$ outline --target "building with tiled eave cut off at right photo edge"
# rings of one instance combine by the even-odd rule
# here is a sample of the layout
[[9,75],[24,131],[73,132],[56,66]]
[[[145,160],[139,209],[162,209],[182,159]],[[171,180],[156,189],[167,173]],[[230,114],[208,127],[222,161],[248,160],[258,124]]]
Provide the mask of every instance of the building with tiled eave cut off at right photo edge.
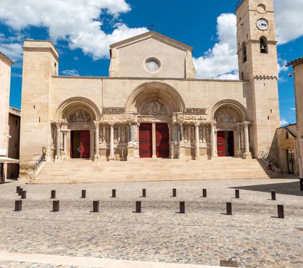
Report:
[[294,68],[294,93],[297,114],[297,144],[299,149],[299,174],[303,178],[303,58],[291,61]]

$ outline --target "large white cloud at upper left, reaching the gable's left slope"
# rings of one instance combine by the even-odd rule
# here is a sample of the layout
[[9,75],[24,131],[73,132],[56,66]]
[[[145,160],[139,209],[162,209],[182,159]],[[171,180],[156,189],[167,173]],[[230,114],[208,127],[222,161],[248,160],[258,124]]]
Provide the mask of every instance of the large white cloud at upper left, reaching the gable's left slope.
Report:
[[11,29],[44,26],[53,41],[66,40],[94,59],[109,57],[109,44],[147,31],[116,24],[112,33],[102,31],[102,14],[113,20],[131,8],[125,0],[1,0],[0,20]]

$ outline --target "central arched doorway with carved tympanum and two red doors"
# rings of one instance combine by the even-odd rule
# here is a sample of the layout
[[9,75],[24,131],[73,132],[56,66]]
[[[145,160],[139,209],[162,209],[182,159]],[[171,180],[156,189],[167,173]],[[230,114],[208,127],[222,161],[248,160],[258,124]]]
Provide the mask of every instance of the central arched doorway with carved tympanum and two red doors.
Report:
[[138,115],[139,158],[169,158],[172,149],[172,114],[184,110],[179,93],[165,83],[144,83],[126,102],[126,112]]

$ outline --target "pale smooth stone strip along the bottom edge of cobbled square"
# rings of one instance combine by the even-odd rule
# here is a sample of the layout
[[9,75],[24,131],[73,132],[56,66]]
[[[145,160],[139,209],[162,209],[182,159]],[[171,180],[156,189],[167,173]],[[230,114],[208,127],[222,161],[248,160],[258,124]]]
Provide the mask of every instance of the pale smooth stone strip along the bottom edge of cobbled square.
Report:
[[39,264],[69,265],[102,268],[219,268],[194,264],[170,264],[163,262],[141,262],[121,259],[99,259],[91,257],[71,257],[50,254],[28,254],[15,252],[0,252],[0,261],[31,262]]

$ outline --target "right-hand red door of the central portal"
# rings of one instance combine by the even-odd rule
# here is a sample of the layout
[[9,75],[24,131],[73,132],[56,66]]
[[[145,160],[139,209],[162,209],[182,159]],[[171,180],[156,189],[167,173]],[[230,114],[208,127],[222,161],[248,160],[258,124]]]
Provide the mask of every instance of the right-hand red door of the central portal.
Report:
[[167,124],[156,124],[157,158],[169,157],[169,127]]

